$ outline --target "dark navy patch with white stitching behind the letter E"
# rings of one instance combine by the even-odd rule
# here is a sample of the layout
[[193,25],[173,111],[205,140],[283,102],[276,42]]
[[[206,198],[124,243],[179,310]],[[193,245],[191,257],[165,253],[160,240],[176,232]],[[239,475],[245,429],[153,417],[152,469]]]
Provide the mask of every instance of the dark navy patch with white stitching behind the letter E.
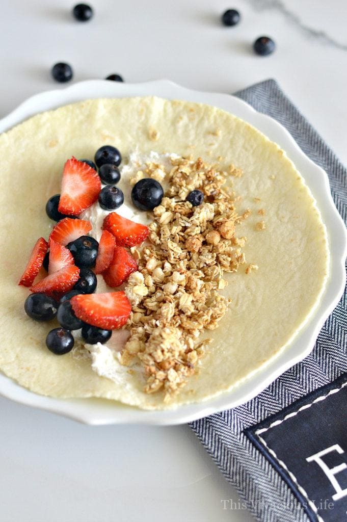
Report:
[[[317,521],[317,515],[297,484],[305,490],[325,522],[347,518],[347,492],[340,500],[333,501],[332,496],[336,491],[330,480],[315,461],[306,460],[307,457],[338,444],[343,454],[331,450],[321,458],[329,468],[343,462],[347,465],[347,387],[343,387],[345,383],[347,373],[245,430],[245,435],[285,480],[313,522]],[[339,392],[332,393],[336,390]],[[326,399],[317,401],[324,397]],[[308,405],[312,406],[305,408]],[[293,414],[293,417],[286,418],[290,414]],[[277,424],[279,421],[282,422]],[[261,432],[263,429],[267,431]],[[270,449],[276,455],[270,453]],[[294,475],[296,481],[285,468]],[[347,469],[337,473],[336,479],[341,489],[347,488]]]

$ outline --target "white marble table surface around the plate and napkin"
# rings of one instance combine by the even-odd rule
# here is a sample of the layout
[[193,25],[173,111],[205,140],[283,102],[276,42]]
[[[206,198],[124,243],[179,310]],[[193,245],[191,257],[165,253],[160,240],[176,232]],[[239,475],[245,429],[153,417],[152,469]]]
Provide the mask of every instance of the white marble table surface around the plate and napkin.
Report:
[[[272,77],[347,163],[344,0],[92,0],[88,23],[72,5],[3,3],[0,116],[56,88],[57,61],[74,81],[119,73],[219,92]],[[242,14],[234,28],[219,23],[228,7]],[[261,34],[276,40],[272,56],[252,53]],[[188,426],[91,428],[4,398],[0,408],[0,522],[253,520],[242,504],[223,509],[239,497]]]

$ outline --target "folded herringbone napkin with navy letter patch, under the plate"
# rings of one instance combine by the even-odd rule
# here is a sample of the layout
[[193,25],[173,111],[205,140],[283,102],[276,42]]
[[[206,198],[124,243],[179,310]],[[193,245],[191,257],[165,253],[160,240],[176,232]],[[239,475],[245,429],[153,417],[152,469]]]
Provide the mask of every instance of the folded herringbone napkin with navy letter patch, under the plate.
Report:
[[[274,80],[236,93],[279,121],[329,176],[346,222],[346,170]],[[255,399],[191,424],[243,501],[262,522],[347,520],[347,299],[322,328],[312,353]]]

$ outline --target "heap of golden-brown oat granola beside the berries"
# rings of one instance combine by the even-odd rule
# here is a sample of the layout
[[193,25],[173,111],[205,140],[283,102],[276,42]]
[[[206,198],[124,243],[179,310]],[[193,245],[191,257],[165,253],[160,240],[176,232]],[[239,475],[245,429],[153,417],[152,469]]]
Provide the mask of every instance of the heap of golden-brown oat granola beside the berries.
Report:
[[[171,163],[169,173],[163,165],[147,165],[145,175],[163,178],[163,173],[169,188],[153,210],[149,241],[131,249],[138,271],[125,288],[133,311],[120,358],[125,365],[140,361],[145,391],[163,390],[165,401],[197,371],[208,342],[199,342],[201,331],[216,328],[228,310],[229,300],[220,294],[227,284],[223,273],[245,263],[246,238],[236,237],[235,226],[250,213],[236,213],[235,196],[224,187],[227,173],[201,158]],[[193,207],[185,198],[196,188],[205,200]]]

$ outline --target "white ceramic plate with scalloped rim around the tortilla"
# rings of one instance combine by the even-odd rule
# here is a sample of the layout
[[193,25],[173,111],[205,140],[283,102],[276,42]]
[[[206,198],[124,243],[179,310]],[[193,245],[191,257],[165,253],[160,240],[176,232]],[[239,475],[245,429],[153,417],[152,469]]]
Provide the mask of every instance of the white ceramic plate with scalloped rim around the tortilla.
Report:
[[[39,112],[90,98],[122,98],[130,96],[160,96],[207,103],[229,111],[254,125],[286,151],[317,200],[326,224],[330,247],[330,277],[314,315],[295,337],[294,341],[277,358],[250,376],[239,386],[214,399],[180,406],[166,411],[145,411],[103,399],[54,399],[29,392],[11,379],[0,374],[0,394],[28,406],[34,406],[86,424],[180,424],[224,409],[232,408],[252,399],[276,377],[301,361],[313,349],[319,330],[339,302],[345,285],[344,261],[347,253],[347,234],[344,223],[330,195],[328,176],[296,145],[282,125],[255,111],[244,101],[229,94],[217,94],[185,89],[171,81],[158,80],[143,84],[123,84],[105,80],[83,81],[65,89],[37,94],[0,121],[0,132],[26,120]],[[333,274],[333,277],[331,276]]]

